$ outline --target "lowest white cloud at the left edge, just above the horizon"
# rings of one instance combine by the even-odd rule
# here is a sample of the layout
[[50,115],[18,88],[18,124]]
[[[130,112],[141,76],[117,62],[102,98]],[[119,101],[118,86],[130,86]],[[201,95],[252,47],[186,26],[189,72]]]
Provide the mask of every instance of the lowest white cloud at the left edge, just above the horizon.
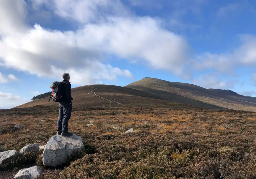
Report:
[[29,102],[29,100],[13,95],[12,93],[0,92],[0,109],[12,108],[27,102]]

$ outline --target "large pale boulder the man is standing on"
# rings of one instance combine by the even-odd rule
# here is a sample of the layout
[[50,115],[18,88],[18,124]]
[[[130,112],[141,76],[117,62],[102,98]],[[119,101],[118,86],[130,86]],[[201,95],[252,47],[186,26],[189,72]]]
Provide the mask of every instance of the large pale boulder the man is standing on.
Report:
[[52,136],[43,152],[43,164],[53,167],[61,165],[69,156],[80,152],[83,148],[82,138],[75,134],[71,137]]

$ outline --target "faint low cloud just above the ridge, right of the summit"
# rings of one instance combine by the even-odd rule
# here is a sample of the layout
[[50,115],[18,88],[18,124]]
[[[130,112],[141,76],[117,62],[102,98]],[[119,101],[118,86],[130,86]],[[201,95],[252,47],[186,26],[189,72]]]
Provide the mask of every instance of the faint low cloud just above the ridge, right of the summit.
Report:
[[226,81],[217,78],[216,76],[207,74],[200,75],[197,79],[192,80],[192,84],[213,89],[230,89],[234,87],[234,81]]

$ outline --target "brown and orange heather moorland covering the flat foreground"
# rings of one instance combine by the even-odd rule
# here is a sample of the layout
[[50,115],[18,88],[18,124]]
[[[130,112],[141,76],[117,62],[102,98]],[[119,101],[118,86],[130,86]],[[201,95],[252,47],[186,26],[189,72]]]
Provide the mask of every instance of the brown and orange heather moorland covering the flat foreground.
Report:
[[[57,117],[57,107],[0,110],[3,150],[45,145],[56,134]],[[22,128],[14,129],[17,123]],[[135,133],[124,134],[130,128]],[[69,130],[82,137],[85,150],[66,165],[45,168],[41,154],[22,155],[0,166],[0,178],[14,178],[19,169],[33,165],[45,179],[256,178],[254,112],[74,107]]]

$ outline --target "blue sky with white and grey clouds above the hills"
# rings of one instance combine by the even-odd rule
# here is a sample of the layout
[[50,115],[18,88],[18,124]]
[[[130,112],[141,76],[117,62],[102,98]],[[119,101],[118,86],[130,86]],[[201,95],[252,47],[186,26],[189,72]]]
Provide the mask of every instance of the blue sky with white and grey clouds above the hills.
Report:
[[0,108],[144,77],[256,95],[256,1],[0,0]]

